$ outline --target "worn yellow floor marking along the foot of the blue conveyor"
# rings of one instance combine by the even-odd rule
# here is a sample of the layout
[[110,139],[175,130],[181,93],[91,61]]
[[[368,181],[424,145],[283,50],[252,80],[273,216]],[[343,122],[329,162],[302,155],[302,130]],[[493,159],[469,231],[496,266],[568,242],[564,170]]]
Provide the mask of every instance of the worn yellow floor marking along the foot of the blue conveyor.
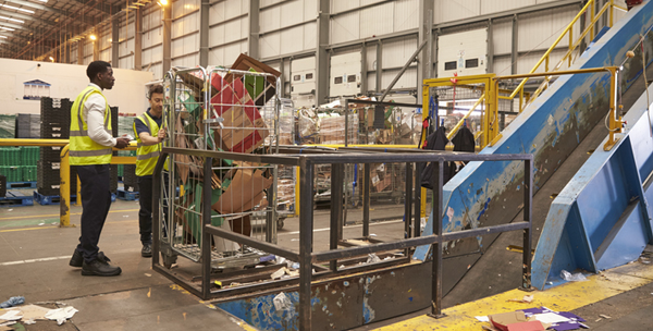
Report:
[[[544,306],[553,310],[569,311],[606,299],[626,291],[653,282],[653,266],[634,262],[594,274],[586,282],[566,283],[545,291],[531,293],[513,290],[476,302],[444,309],[447,316],[433,319],[419,316],[375,330],[480,330],[486,324],[475,316],[508,312],[517,309]],[[532,294],[530,304],[508,302]]]

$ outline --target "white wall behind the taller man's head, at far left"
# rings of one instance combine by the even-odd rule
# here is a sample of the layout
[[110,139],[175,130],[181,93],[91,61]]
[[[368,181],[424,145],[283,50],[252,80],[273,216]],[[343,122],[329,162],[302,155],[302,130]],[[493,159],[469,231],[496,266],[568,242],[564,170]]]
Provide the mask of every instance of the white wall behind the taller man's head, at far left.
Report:
[[[0,113],[40,113],[39,100],[23,100],[23,82],[33,79],[51,84],[51,98],[74,100],[88,85],[86,66],[0,59]],[[109,105],[118,106],[120,112],[143,113],[147,109],[145,84],[153,79],[152,73],[113,69],[113,76],[115,85],[104,90]]]

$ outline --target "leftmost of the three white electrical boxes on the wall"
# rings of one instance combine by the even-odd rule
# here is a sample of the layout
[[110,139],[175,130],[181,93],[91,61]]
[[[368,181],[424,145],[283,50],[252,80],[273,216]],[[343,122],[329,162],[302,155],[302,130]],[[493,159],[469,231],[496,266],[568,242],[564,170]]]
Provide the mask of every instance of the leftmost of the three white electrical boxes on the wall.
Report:
[[289,78],[295,108],[312,107],[316,103],[316,58],[293,60]]

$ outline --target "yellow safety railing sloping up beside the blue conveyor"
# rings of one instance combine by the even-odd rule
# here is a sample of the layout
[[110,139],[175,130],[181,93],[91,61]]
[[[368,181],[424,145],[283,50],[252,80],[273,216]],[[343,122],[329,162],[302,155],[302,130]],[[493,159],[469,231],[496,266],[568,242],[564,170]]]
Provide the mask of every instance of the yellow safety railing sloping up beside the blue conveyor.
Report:
[[[542,56],[542,58],[535,63],[535,65],[531,69],[531,71],[528,74],[534,74],[535,71],[538,71],[539,69],[541,69],[542,64],[544,64],[544,72],[557,72],[562,65],[565,62],[568,62],[568,65],[571,65],[571,63],[574,62],[574,51],[578,49],[578,47],[581,45],[581,42],[584,40],[584,38],[589,35],[590,39],[594,39],[595,37],[595,32],[594,32],[594,25],[597,23],[597,21],[601,19],[601,16],[604,13],[608,13],[608,26],[612,27],[613,23],[614,23],[614,11],[615,10],[621,10],[621,11],[628,11],[627,9],[619,7],[617,4],[614,3],[614,0],[609,0],[607,1],[599,12],[596,12],[595,7],[596,7],[597,1],[596,0],[589,0],[586,5],[578,12],[578,14],[574,17],[574,20],[571,20],[571,22],[566,26],[566,28],[560,33],[560,35],[557,37],[557,39],[553,42],[553,45],[551,45],[551,47],[544,52],[544,54]],[[589,12],[590,14],[590,20],[589,22],[586,23],[586,28],[580,32],[578,38],[574,38],[574,25],[586,14],[586,12]],[[568,45],[568,50],[567,52],[563,56],[563,58],[558,61],[558,63],[556,63],[551,70],[550,70],[550,61],[551,61],[551,54],[552,52],[556,49],[556,47],[558,46],[558,44],[565,39],[565,37],[568,38],[569,40],[569,45]],[[519,98],[519,112],[522,112],[526,107],[528,107],[530,103],[532,103],[532,101],[547,87],[549,82],[551,81],[551,78],[553,77],[553,74],[550,75],[537,75],[537,76],[542,76],[544,77],[544,81],[542,82],[542,84],[538,87],[538,89],[531,95],[527,91],[525,91],[525,85],[526,83],[529,81],[530,77],[533,76],[519,76],[521,77],[521,82],[519,83],[519,85],[509,94],[509,96],[498,96],[498,90],[495,93],[496,96],[498,96],[498,99],[504,99],[504,100],[514,100],[516,97]],[[478,77],[478,76],[470,76],[470,77]],[[447,78],[442,78],[442,79],[457,79],[458,82],[464,81],[466,77],[465,76],[458,76],[458,77],[447,77]],[[513,78],[517,78],[517,76],[513,76]],[[503,78],[502,78],[503,79]],[[424,79],[424,84],[427,84],[427,81],[433,81],[433,79]],[[460,83],[458,83],[460,84]],[[496,89],[496,87],[495,87]],[[424,98],[428,98],[428,94],[426,94]],[[449,133],[447,134],[447,137],[451,139],[456,132],[463,126],[464,121],[472,113],[472,111],[479,106],[482,105],[483,102],[486,102],[486,91],[485,94],[483,94],[478,101],[473,105],[473,107],[469,110],[469,112],[463,118],[460,119],[460,121],[454,126],[453,130],[449,131]],[[428,99],[426,99],[427,101],[424,101],[424,109],[428,109]],[[495,100],[494,102],[498,102],[497,100]],[[496,106],[498,103],[495,103],[495,109],[491,109],[489,107],[489,105],[485,107],[485,114],[483,115],[484,120],[482,121],[482,125],[481,125],[481,133],[480,135],[483,137],[481,139],[481,148],[485,147],[486,145],[491,145],[492,142],[495,142],[500,137],[500,133],[498,133],[498,127],[496,127],[496,125],[494,127],[491,126],[486,126],[486,125],[494,125],[494,119],[496,118]],[[489,112],[489,113],[488,113]],[[424,120],[428,117],[428,112],[424,112]],[[489,118],[490,120],[485,119]]]

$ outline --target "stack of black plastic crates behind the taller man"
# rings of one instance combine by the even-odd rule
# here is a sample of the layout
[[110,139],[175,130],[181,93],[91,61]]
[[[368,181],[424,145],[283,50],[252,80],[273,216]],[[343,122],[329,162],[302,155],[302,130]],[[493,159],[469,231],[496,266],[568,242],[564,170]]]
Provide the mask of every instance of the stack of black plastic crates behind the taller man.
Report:
[[[44,139],[69,139],[71,128],[70,99],[41,98],[40,137]],[[61,167],[61,147],[42,147],[37,167],[37,191],[46,196],[58,196]],[[71,194],[77,191],[77,171],[71,167]]]

